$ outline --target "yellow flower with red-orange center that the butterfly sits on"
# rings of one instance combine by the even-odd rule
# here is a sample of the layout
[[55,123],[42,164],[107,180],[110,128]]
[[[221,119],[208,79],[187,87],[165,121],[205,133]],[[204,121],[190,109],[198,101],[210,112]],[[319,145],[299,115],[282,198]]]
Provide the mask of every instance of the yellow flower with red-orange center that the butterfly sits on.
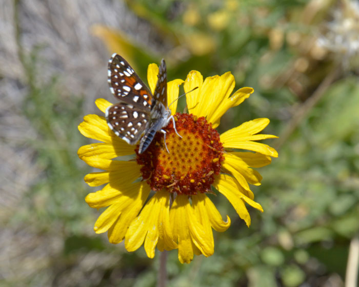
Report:
[[[151,64],[148,82],[152,91],[157,73],[158,67]],[[175,104],[170,107],[182,138],[171,121],[165,128],[169,153],[162,133],[157,133],[149,148],[138,154],[137,146],[128,145],[108,128],[105,117],[87,115],[78,129],[100,142],[81,147],[78,156],[91,167],[103,170],[85,176],[90,186],[106,184],[86,197],[92,208],[107,207],[95,223],[96,233],[107,231],[111,243],[125,240],[128,251],[144,244],[150,258],[156,247],[160,251],[178,249],[179,261],[189,263],[194,254],[213,254],[212,229],[223,232],[230,226],[230,218],[223,220],[208,196],[213,193],[211,186],[227,197],[249,226],[245,203],[263,212],[249,188],[249,183],[260,185],[262,180],[252,168],[268,165],[277,152],[256,142],[275,138],[258,134],[269,124],[267,118],[247,121],[222,135],[215,130],[222,115],[248,98],[252,88],[231,95],[234,77],[230,72],[203,80],[200,72],[191,71],[185,81],[168,83],[169,103],[177,98],[178,86],[183,82],[185,91],[198,89],[187,97],[190,114],[175,114]],[[96,105],[105,112],[111,103],[97,99]],[[117,158],[131,154],[135,160]]]

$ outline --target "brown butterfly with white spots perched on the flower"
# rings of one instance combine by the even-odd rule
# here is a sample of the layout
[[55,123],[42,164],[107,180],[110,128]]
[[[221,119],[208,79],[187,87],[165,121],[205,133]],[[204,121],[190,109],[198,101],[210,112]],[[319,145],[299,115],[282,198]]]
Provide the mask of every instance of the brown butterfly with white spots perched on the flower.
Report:
[[123,57],[114,53],[108,63],[108,83],[118,103],[106,109],[107,125],[130,145],[135,145],[143,135],[139,142],[139,154],[146,151],[158,131],[164,134],[167,149],[166,131],[163,128],[170,120],[176,134],[182,137],[177,133],[174,117],[167,107],[167,71],[164,59],[159,66],[157,77],[152,95]]

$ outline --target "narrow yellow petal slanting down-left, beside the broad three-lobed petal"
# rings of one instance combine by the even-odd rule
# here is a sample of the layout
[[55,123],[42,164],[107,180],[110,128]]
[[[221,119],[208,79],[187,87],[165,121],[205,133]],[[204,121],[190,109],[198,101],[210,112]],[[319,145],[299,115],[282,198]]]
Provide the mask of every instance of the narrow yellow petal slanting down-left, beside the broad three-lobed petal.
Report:
[[141,182],[136,199],[134,199],[133,203],[123,210],[121,216],[108,231],[108,239],[111,243],[116,244],[124,239],[128,227],[144,206],[150,191],[151,189],[147,183]]

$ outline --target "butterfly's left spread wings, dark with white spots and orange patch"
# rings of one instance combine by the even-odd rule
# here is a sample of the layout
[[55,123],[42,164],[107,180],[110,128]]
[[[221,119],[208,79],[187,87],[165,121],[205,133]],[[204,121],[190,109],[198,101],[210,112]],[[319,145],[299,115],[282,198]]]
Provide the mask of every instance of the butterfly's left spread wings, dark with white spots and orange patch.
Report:
[[117,136],[134,145],[149,126],[152,93],[118,54],[109,60],[108,83],[119,103],[107,108],[107,124]]

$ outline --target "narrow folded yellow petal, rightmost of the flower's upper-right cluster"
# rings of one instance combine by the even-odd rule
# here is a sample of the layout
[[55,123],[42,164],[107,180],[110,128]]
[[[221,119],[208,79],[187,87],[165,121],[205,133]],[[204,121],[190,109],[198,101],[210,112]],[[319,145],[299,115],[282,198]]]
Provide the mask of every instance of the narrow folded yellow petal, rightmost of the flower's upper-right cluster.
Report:
[[220,125],[221,117],[227,112],[229,108],[238,106],[243,103],[243,101],[253,93],[252,88],[241,88],[237,90],[231,97],[226,98],[222,101],[221,105],[215,109],[214,113],[212,113],[207,120],[212,122],[212,127],[216,128]]

